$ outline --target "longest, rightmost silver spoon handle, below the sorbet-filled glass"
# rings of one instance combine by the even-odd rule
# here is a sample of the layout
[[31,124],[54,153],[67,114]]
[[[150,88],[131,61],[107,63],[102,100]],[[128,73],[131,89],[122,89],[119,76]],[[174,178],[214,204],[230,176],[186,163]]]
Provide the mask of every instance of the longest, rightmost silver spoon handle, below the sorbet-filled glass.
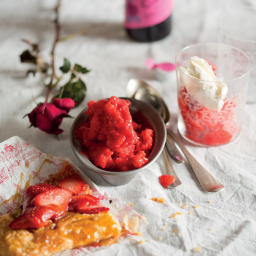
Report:
[[196,159],[188,152],[180,138],[178,138],[170,129],[168,133],[172,136],[173,140],[177,142],[180,149],[186,156],[188,163],[190,164],[192,170],[195,172],[196,178],[200,182],[202,188],[207,192],[217,192],[225,187],[218,180],[216,180],[212,175],[205,170],[205,168],[196,161]]

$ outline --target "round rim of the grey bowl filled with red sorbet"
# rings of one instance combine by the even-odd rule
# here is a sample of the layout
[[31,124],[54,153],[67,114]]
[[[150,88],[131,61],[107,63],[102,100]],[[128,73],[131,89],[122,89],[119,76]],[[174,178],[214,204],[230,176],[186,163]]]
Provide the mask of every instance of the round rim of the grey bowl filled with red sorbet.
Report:
[[[83,154],[79,153],[79,150],[77,150],[77,147],[74,145],[73,143],[73,139],[77,142],[79,142],[78,140],[76,140],[76,138],[74,138],[74,128],[77,125],[77,122],[79,121],[79,118],[81,118],[81,116],[84,115],[84,112],[86,111],[86,109],[88,108],[88,106],[86,106],[76,117],[76,119],[74,120],[74,122],[72,123],[72,126],[70,128],[70,133],[69,133],[69,139],[70,139],[70,145],[72,148],[72,151],[74,152],[76,158],[78,159],[78,161],[83,164],[83,166],[95,173],[98,173],[100,175],[108,175],[108,176],[127,176],[127,175],[131,175],[131,174],[135,174],[138,172],[141,172],[142,170],[145,170],[148,166],[150,166],[150,164],[154,163],[154,161],[156,161],[156,159],[160,156],[160,154],[163,151],[164,145],[165,145],[165,141],[166,141],[166,137],[167,137],[167,132],[166,132],[166,127],[163,121],[163,118],[161,118],[161,116],[159,115],[159,113],[156,111],[156,109],[154,109],[152,106],[150,106],[150,104],[148,104],[147,102],[144,102],[143,100],[137,100],[137,99],[133,99],[133,98],[127,98],[127,97],[119,97],[120,99],[124,99],[124,100],[129,100],[131,102],[131,106],[132,107],[132,102],[140,102],[140,104],[144,104],[145,106],[147,106],[148,109],[150,109],[150,112],[154,113],[154,115],[157,115],[159,117],[159,122],[161,122],[161,126],[163,127],[163,143],[159,149],[159,151],[156,153],[156,156],[151,159],[150,161],[148,161],[148,163],[146,163],[145,165],[141,166],[140,168],[136,168],[136,169],[132,169],[132,170],[128,170],[128,171],[124,171],[124,172],[113,172],[113,171],[107,171],[107,170],[103,170],[100,169],[99,167],[95,166],[90,159],[88,159],[86,156],[84,156]],[[109,99],[109,98],[108,98]],[[153,129],[153,127],[152,127]],[[155,131],[154,131],[155,132]],[[80,145],[80,144],[79,144]],[[90,166],[87,166],[84,164],[83,159],[87,159],[88,161],[90,161],[90,163],[92,163],[93,168],[91,168]]]

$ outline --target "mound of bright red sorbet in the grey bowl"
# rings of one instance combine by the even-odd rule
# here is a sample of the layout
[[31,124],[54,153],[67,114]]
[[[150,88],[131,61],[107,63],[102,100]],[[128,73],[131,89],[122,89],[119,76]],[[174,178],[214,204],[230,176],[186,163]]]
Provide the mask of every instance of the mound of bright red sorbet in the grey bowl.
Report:
[[75,134],[95,166],[124,172],[147,163],[154,131],[134,122],[129,106],[129,100],[115,96],[88,102],[88,122],[79,125]]

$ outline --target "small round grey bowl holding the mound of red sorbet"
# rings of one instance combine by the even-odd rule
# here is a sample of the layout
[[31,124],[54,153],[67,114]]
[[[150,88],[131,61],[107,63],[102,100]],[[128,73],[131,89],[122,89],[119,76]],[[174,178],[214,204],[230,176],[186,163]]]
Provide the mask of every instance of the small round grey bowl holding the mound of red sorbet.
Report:
[[[70,130],[70,144],[78,161],[81,164],[83,164],[85,168],[84,172],[98,173],[102,177],[102,179],[104,179],[106,182],[113,186],[127,184],[135,177],[137,173],[147,169],[148,166],[150,166],[150,164],[156,161],[157,157],[160,156],[164,148],[164,143],[166,141],[166,128],[163,119],[157,113],[157,111],[154,108],[152,108],[152,106],[141,100],[136,100],[132,98],[122,99],[127,99],[131,102],[131,107],[129,108],[129,110],[132,115],[132,118],[135,121],[136,118],[145,118],[145,120],[150,124],[151,128],[154,130],[154,144],[150,152],[150,155],[148,156],[148,163],[142,166],[141,168],[129,170],[126,172],[110,172],[98,168],[87,157],[79,153],[79,151],[81,150],[80,142],[76,140],[76,137],[74,135],[74,129],[76,129],[76,127],[79,124],[81,124],[81,122],[86,122],[86,120],[88,119],[88,116],[84,115],[84,111],[86,111],[87,108],[84,108],[83,111],[81,111],[81,113],[77,116]],[[138,120],[137,122],[140,124],[140,120]]]

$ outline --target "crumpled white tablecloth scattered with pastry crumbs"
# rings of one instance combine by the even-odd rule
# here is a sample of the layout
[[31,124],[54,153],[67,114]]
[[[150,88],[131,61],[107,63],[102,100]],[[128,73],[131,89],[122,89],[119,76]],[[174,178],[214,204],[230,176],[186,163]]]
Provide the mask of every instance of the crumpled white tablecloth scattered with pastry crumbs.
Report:
[[[253,0],[240,2],[255,6]],[[84,170],[68,139],[73,119],[63,120],[64,132],[58,140],[39,129],[28,128],[28,118],[22,118],[35,108],[31,97],[36,102],[44,100],[45,89],[38,76],[25,77],[28,66],[20,63],[19,54],[27,45],[21,38],[40,42],[42,55],[49,59],[54,38],[54,4],[55,1],[32,0],[0,2],[0,141],[20,136],[46,154],[70,158]],[[134,42],[125,34],[124,1],[63,1],[61,33],[68,35],[84,28],[88,31],[57,45],[56,67],[65,57],[92,70],[83,76],[86,99],[70,115],[76,116],[89,100],[112,95],[125,97],[127,82],[137,77],[163,95],[176,131],[175,74],[170,81],[157,81],[154,72],[145,67],[145,60],[173,62],[177,51],[186,45],[216,42],[218,15],[227,6],[221,0],[176,1],[170,36],[146,44]],[[130,202],[150,223],[129,246],[115,244],[92,255],[256,255],[256,104],[247,104],[244,110],[243,129],[236,141],[209,148],[194,147],[184,141],[189,152],[225,184],[225,190],[219,193],[205,193],[188,163],[173,163],[182,186],[162,188],[158,182],[163,172],[161,158],[120,187],[109,186],[84,170],[100,189],[126,204]],[[152,197],[163,197],[166,203],[157,204],[150,200]]]

